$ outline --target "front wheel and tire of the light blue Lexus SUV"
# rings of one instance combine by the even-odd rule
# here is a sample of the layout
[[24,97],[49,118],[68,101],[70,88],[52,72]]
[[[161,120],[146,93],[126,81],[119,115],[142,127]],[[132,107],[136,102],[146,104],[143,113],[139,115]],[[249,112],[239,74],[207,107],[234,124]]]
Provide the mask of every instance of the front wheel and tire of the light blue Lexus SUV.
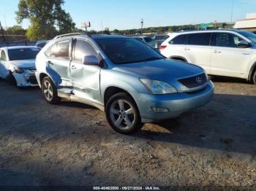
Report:
[[106,105],[105,112],[108,123],[118,133],[135,133],[143,127],[138,107],[127,93],[113,95]]

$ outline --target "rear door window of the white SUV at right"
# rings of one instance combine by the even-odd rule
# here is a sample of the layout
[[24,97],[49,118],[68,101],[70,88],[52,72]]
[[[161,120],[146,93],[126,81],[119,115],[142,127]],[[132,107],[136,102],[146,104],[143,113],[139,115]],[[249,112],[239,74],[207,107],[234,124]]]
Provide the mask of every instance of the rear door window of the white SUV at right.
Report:
[[211,39],[211,33],[190,34],[189,44],[208,46],[210,44],[210,39]]

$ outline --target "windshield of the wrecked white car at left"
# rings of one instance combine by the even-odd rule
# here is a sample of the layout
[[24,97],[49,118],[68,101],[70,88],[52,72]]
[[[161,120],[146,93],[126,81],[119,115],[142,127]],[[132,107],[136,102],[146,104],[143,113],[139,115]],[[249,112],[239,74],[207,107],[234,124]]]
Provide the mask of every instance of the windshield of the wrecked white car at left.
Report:
[[10,49],[8,55],[10,61],[30,60],[35,59],[39,51],[37,47]]

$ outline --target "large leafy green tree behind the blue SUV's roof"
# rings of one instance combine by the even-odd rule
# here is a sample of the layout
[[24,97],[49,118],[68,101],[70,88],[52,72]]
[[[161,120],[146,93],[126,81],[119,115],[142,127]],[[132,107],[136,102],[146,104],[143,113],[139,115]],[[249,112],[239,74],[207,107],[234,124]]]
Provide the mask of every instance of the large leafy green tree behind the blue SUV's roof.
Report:
[[75,23],[69,13],[62,9],[63,0],[20,0],[16,20],[29,19],[31,26],[26,32],[29,40],[51,39],[57,34],[69,33]]

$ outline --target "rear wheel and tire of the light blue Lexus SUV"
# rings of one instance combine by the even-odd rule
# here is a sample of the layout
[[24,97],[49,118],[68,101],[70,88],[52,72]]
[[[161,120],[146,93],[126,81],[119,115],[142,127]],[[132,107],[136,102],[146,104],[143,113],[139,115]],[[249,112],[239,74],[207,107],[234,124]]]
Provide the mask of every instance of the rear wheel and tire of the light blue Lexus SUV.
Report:
[[42,79],[41,86],[42,95],[45,101],[48,104],[58,104],[60,100],[58,97],[58,91],[56,85],[53,83],[50,77],[45,77],[44,79]]

